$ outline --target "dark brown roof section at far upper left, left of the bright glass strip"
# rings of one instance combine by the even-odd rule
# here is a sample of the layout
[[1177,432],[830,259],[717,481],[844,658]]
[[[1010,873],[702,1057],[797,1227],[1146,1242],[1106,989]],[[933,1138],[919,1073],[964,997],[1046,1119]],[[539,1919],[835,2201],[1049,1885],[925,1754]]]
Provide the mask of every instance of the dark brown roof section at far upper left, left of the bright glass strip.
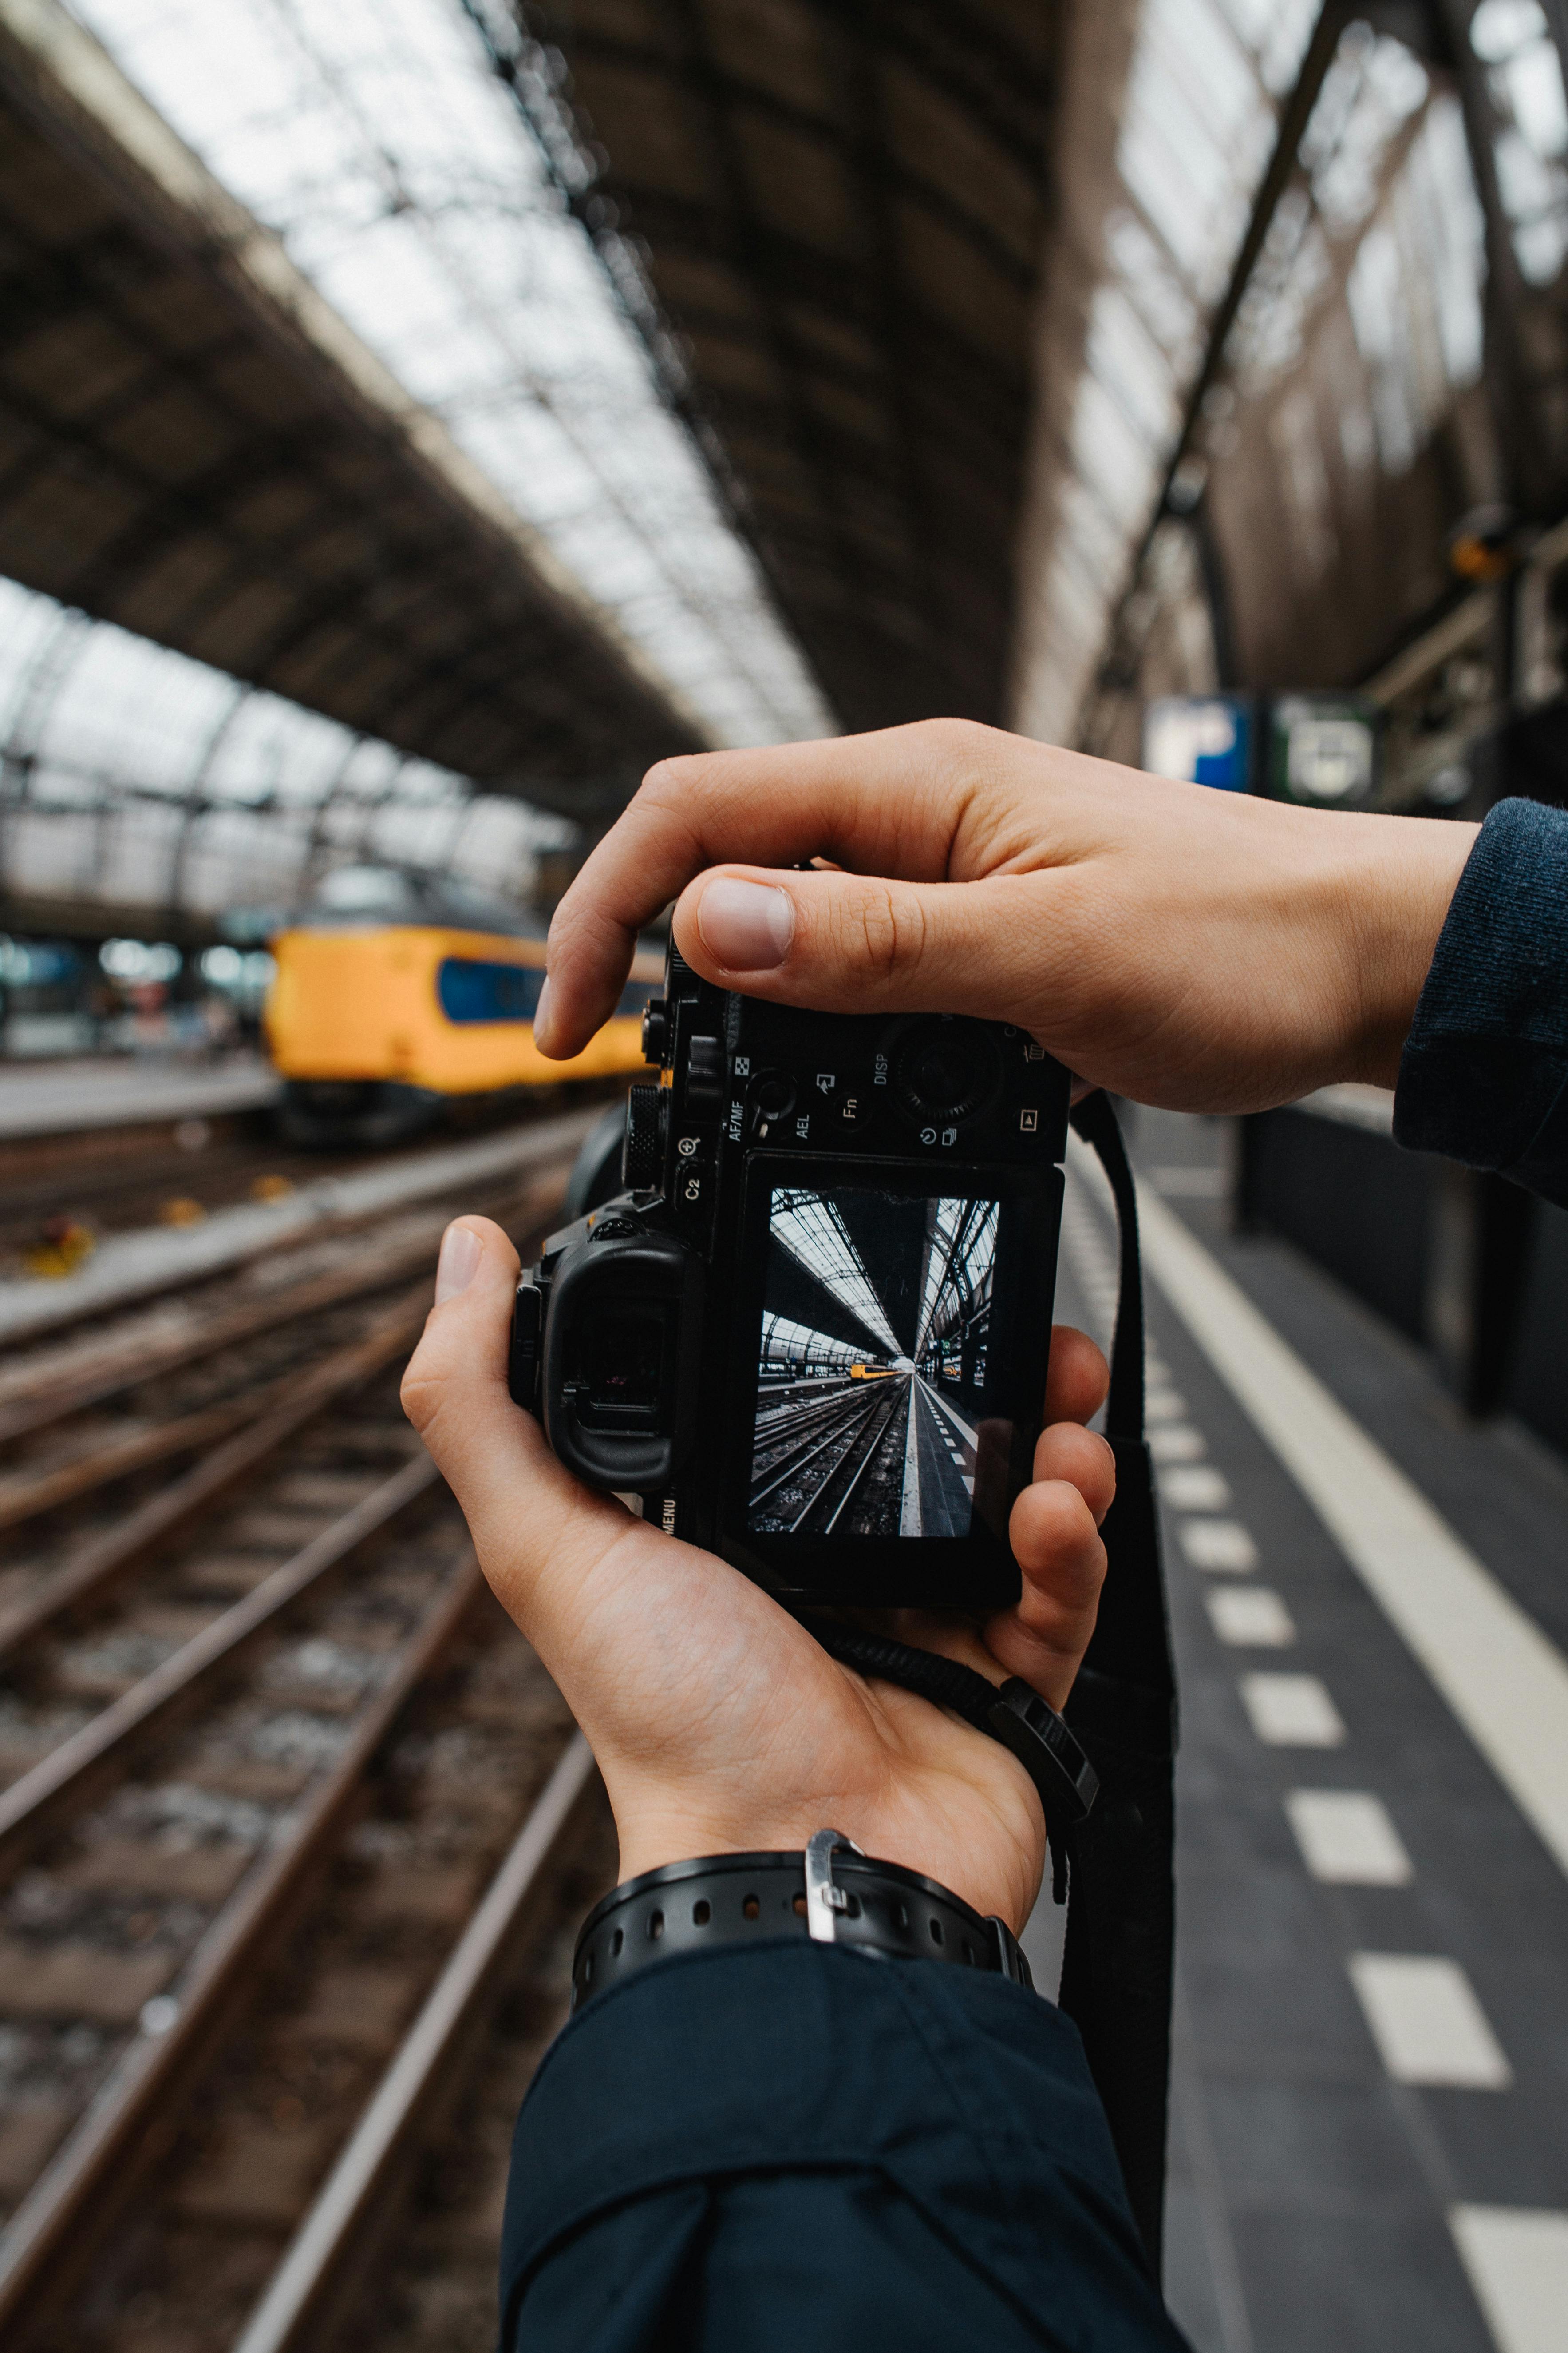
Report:
[[701,744],[543,536],[73,33],[49,56],[0,21],[5,572],[543,802]]

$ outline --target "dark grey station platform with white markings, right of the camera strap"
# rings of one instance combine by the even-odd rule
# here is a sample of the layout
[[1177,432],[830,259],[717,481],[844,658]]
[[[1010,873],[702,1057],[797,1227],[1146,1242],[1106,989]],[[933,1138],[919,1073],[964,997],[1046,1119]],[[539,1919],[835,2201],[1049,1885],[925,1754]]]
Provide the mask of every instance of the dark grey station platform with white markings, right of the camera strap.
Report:
[[[1180,1668],[1168,2285],[1199,2353],[1568,2344],[1568,1461],[1131,1113]],[[1074,1162],[1058,1315],[1105,1339]],[[1037,1913],[1051,1967],[1056,1925]]]

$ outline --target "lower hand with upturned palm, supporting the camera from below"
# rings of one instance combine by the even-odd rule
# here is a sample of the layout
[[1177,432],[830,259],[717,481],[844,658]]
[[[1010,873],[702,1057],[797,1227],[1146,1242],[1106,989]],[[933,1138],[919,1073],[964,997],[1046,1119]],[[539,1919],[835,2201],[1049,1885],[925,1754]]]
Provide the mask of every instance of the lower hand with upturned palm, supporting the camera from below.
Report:
[[[489,1584],[588,1734],[623,1878],[696,1854],[792,1852],[832,1826],[1020,1929],[1046,1831],[1018,1758],[926,1699],[837,1666],[738,1569],[562,1471],[505,1388],[515,1287],[517,1252],[498,1226],[447,1228],[402,1402]],[[1105,1574],[1098,1522],[1114,1464],[1081,1428],[1105,1384],[1093,1341],[1058,1327],[1053,1426],[1009,1529],[1023,1600],[985,1628],[900,1612],[882,1621],[889,1631],[1065,1701]]]

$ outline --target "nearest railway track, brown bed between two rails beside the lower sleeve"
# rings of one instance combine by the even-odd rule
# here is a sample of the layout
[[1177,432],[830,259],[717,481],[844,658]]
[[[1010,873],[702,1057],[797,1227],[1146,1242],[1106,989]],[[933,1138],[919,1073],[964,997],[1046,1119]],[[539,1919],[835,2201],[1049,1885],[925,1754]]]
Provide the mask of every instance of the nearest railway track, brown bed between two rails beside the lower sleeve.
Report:
[[[388,1558],[411,1605],[416,1567],[407,1548]],[[428,1572],[428,1539],[421,1558]],[[165,1798],[190,1786],[188,1758],[162,1769],[186,1774],[158,1784]],[[261,2322],[268,2287],[263,2341],[320,2344],[355,2245],[388,2226],[402,2169],[473,2064],[588,1774],[555,1687],[458,1546],[409,1607],[395,1671],[270,1835],[244,1817],[254,1849],[235,1840],[228,1809],[212,1849],[228,1871],[235,1845],[254,1859],[167,1991],[143,1995],[0,2238],[7,2346],[219,2353]],[[61,1885],[56,1868],[47,1887]],[[143,1885],[122,1901],[150,1911]],[[289,2235],[322,2198],[327,2219],[289,2268]]]

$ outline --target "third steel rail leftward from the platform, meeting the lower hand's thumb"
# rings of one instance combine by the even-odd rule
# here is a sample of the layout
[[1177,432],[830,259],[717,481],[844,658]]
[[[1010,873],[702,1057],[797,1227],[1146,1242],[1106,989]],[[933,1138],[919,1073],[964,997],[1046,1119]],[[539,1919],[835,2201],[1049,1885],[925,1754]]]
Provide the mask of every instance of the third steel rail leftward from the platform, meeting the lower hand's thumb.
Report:
[[35,1840],[56,1826],[63,1809],[96,1798],[113,1762],[129,1767],[146,1732],[162,1729],[181,1701],[233,1668],[259,1633],[331,1569],[341,1567],[369,1537],[381,1534],[416,1497],[435,1487],[437,1478],[435,1464],[423,1457],[383,1480],[362,1504],[355,1504],[341,1520],[301,1546],[292,1560],[273,1569],[244,1600],[223,1609],[212,1626],[181,1642],[162,1666],[101,1708],[19,1781],[12,1781],[0,1793],[0,1885],[26,1859]]

